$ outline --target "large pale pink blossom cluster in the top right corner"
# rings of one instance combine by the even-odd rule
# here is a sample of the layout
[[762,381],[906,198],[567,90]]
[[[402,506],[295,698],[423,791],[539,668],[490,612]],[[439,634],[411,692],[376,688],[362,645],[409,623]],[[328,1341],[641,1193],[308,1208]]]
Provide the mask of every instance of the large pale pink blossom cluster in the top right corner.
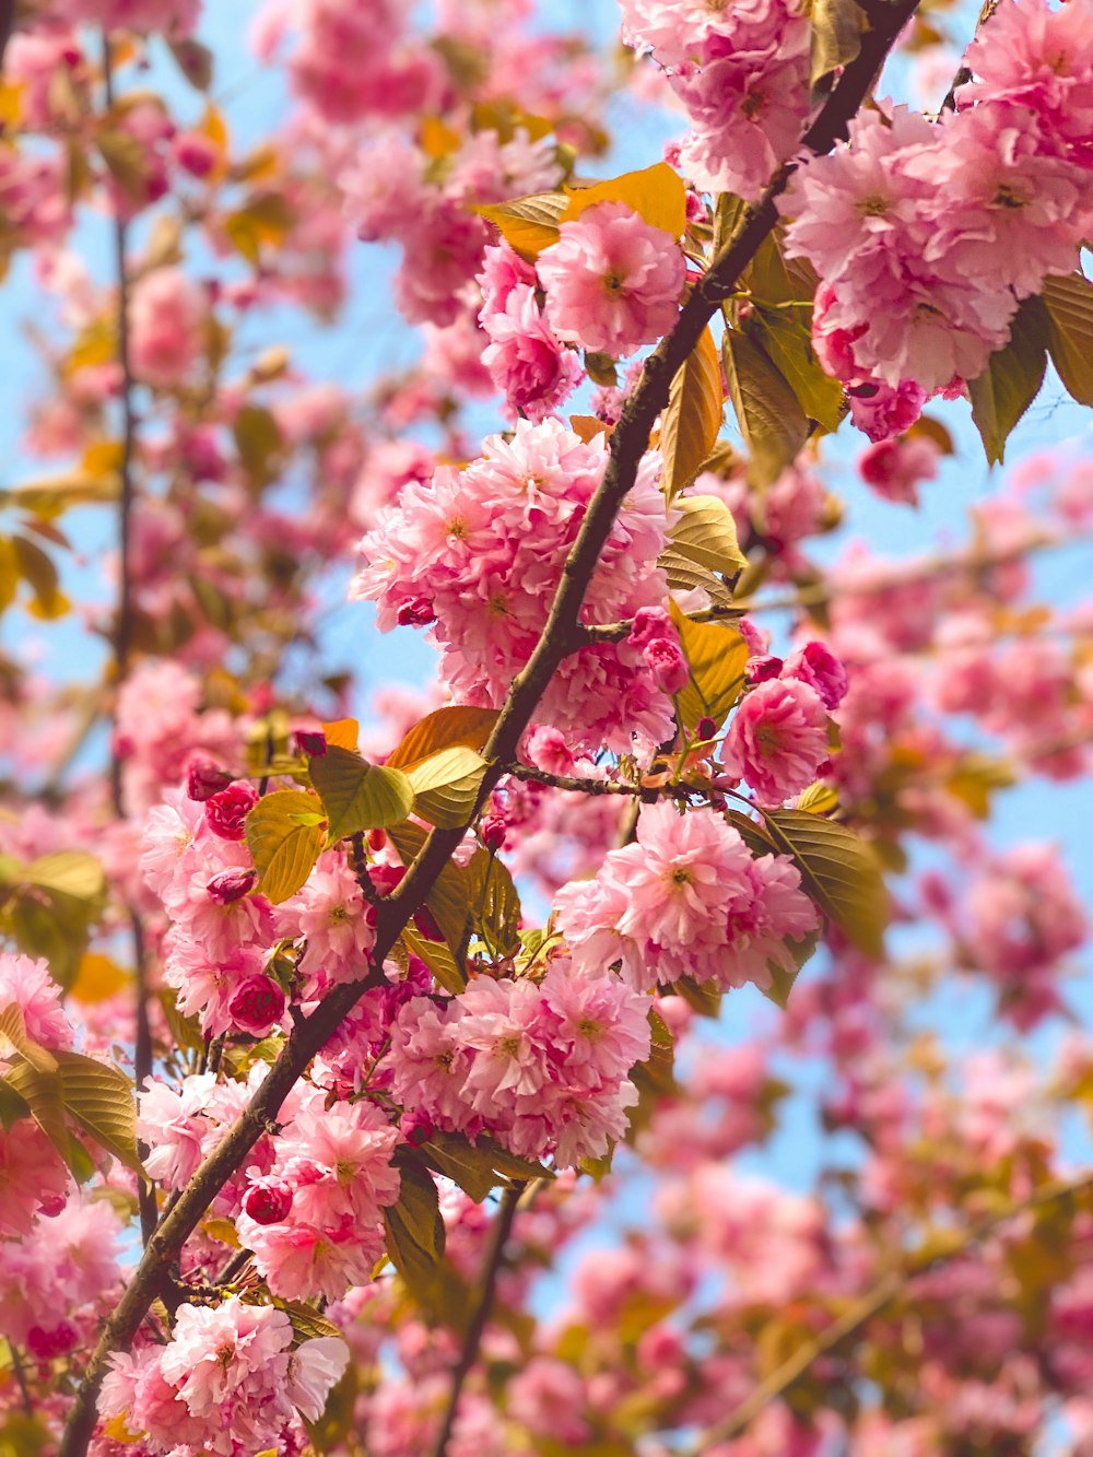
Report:
[[1092,22],[1089,0],[1006,0],[968,52],[979,79],[959,111],[866,111],[847,149],[796,172],[780,205],[790,254],[823,280],[816,347],[851,402],[876,415],[880,393],[874,439],[978,376],[1019,302],[1076,268],[1090,226]]

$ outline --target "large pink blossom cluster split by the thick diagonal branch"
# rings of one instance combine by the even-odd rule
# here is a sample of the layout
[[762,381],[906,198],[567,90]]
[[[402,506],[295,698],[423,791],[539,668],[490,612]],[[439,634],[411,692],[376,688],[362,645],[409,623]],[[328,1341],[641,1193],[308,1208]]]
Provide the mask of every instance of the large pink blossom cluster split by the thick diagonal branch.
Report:
[[[383,631],[436,622],[440,676],[452,695],[500,705],[539,641],[605,462],[602,437],[586,443],[552,418],[517,421],[510,439],[487,437],[481,459],[462,471],[440,466],[428,485],[411,482],[380,514],[361,542],[366,565],[353,594],[377,602]],[[657,474],[650,453],[593,574],[589,624],[632,618],[665,600]],[[651,746],[672,733],[670,699],[625,641],[567,659],[536,715],[592,749],[628,752],[632,734]]]

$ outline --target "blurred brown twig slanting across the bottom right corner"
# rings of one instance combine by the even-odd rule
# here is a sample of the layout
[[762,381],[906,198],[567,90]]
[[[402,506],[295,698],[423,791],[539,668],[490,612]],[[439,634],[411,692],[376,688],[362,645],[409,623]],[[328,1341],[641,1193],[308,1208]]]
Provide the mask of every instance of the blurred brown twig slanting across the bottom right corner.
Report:
[[920,1275],[925,1275],[927,1271],[936,1269],[940,1265],[947,1265],[953,1259],[966,1254],[969,1250],[975,1249],[991,1234],[995,1234],[1003,1225],[1019,1218],[1023,1214],[1030,1214],[1033,1209],[1042,1209],[1045,1205],[1058,1203],[1061,1199],[1067,1199],[1071,1195],[1081,1193],[1086,1189],[1093,1187],[1093,1171],[1077,1176],[1061,1183],[1045,1185],[1032,1193],[1027,1199],[1020,1203],[1013,1205],[1013,1208],[1003,1211],[1001,1214],[987,1215],[982,1220],[976,1220],[965,1234],[965,1237],[955,1244],[952,1249],[944,1250],[941,1254],[918,1256],[912,1257],[901,1269],[889,1271],[883,1275],[877,1284],[867,1291],[861,1300],[855,1301],[850,1310],[847,1310],[838,1320],[834,1320],[826,1326],[818,1336],[812,1340],[806,1340],[800,1345],[788,1359],[783,1361],[777,1371],[772,1371],[765,1381],[755,1387],[751,1396],[748,1396],[739,1406],[736,1406],[721,1422],[716,1422],[708,1431],[705,1431],[701,1438],[692,1445],[685,1448],[688,1457],[701,1457],[702,1453],[708,1451],[711,1445],[717,1442],[732,1441],[734,1437],[740,1437],[751,1423],[759,1416],[765,1406],[784,1396],[788,1389],[799,1381],[804,1372],[829,1351],[841,1345],[850,1336],[858,1335],[858,1332],[886,1305],[889,1305],[896,1295],[902,1294],[908,1285],[917,1279]]

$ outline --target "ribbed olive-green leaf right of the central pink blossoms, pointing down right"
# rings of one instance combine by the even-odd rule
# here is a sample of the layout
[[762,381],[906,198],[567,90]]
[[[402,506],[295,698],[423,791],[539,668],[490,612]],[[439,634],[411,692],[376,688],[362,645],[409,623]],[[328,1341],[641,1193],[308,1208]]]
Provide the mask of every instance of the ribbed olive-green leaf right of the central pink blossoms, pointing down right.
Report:
[[866,956],[882,957],[889,898],[870,847],[845,825],[802,810],[767,810],[764,819],[823,915]]

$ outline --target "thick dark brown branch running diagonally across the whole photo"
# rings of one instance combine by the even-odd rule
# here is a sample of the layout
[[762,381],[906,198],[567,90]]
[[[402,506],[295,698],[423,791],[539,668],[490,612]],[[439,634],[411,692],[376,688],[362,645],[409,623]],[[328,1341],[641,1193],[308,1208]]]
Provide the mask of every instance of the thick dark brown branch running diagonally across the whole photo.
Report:
[[[880,0],[873,6],[873,29],[863,36],[861,51],[845,67],[823,109],[804,134],[802,141],[804,150],[818,154],[829,152],[847,136],[851,117],[864,101],[889,48],[917,4],[918,0]],[[733,293],[740,274],[774,230],[778,221],[775,200],[786,191],[796,166],[796,162],[787,162],[778,169],[762,201],[745,213],[736,236],[714,258],[692,290],[672,332],[646,360],[641,379],[627,399],[622,418],[612,434],[603,479],[589,503],[577,539],[565,559],[542,637],[526,667],[513,682],[485,746],[484,756],[491,761],[491,768],[482,781],[479,804],[485,803],[497,785],[504,765],[516,758],[520,737],[532,723],[549,679],[563,659],[573,651],[573,634],[580,622],[580,609],[593,568],[622,500],[634,484],[653,424],[667,405],[672,379],[694,351],[721,300]],[[380,985],[385,957],[410,918],[424,905],[426,896],[462,838],[463,829],[434,829],[428,835],[407,876],[382,905],[367,978],[335,986],[310,1017],[293,1027],[262,1085],[219,1147],[200,1166],[171,1214],[160,1221],[95,1348],[83,1384],[73,1402],[58,1457],[85,1457],[95,1429],[98,1393],[111,1352],[133,1340],[156,1297],[163,1272],[178,1257],[182,1244],[197,1228],[222,1186],[258,1142],[267,1123],[275,1119],[281,1103],[307,1064],[363,994]]]

